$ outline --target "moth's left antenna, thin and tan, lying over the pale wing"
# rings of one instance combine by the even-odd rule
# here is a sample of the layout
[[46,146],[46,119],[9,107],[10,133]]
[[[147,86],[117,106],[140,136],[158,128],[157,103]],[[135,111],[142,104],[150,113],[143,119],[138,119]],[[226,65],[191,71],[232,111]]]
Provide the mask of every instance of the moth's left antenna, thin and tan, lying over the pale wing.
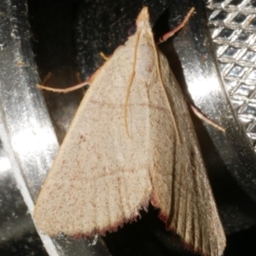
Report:
[[127,108],[128,108],[128,100],[129,100],[129,95],[130,95],[130,90],[131,90],[131,84],[133,82],[134,76],[135,76],[135,67],[136,67],[136,62],[137,62],[137,45],[139,41],[139,36],[141,32],[137,32],[136,34],[136,41],[135,41],[135,50],[133,54],[133,65],[132,65],[132,71],[131,71],[131,77],[128,83],[128,88],[126,91],[126,96],[125,96],[125,131],[128,137],[130,137],[129,131],[128,131],[128,125],[127,125]]

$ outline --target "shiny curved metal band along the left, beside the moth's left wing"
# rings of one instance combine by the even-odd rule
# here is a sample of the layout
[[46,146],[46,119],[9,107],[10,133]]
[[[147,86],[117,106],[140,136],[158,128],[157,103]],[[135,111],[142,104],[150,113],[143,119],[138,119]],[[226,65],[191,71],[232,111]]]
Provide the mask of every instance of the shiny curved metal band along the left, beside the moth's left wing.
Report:
[[[26,3],[1,1],[0,14],[0,137],[17,186],[32,213],[59,145],[42,92],[35,86],[38,73]],[[96,246],[89,247],[91,241],[74,241],[65,236],[52,241],[39,235],[49,255],[108,255],[101,238]]]

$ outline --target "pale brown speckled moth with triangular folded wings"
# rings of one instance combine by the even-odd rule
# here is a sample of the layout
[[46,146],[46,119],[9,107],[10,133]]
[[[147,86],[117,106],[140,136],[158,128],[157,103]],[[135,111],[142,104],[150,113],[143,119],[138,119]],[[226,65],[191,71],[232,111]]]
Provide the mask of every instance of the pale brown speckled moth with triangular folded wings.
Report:
[[90,88],[38,196],[39,230],[104,235],[150,201],[197,253],[225,236],[182,92],[154,43],[148,8],[137,32],[88,80]]

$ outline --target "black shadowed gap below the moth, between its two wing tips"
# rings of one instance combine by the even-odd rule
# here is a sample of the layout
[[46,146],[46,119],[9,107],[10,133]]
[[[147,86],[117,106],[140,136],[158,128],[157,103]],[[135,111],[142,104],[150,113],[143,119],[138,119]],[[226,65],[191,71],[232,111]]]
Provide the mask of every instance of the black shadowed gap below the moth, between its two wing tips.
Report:
[[118,232],[103,237],[110,253],[122,256],[195,255],[184,249],[177,235],[166,231],[165,224],[158,218],[158,212],[158,209],[149,205],[148,212],[140,212],[142,218],[137,222],[125,224]]

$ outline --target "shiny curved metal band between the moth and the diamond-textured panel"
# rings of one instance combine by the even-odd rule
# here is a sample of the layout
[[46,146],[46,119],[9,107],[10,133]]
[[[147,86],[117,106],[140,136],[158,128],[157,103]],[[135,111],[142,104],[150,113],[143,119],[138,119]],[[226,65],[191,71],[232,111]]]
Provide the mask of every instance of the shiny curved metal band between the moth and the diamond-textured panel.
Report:
[[[214,1],[211,2],[214,3]],[[224,1],[224,3],[228,2],[230,3],[230,1]],[[256,157],[254,148],[242,130],[230,100],[227,84],[224,83],[211,32],[206,24],[205,3],[203,1],[193,3],[195,15],[190,18],[188,25],[174,40],[174,47],[183,67],[184,80],[195,106],[208,119],[225,128],[224,133],[203,122],[207,135],[211,138],[227,171],[235,177],[236,182],[255,202]],[[207,145],[204,148],[207,148]],[[216,172],[218,169],[220,166],[216,162]]]

